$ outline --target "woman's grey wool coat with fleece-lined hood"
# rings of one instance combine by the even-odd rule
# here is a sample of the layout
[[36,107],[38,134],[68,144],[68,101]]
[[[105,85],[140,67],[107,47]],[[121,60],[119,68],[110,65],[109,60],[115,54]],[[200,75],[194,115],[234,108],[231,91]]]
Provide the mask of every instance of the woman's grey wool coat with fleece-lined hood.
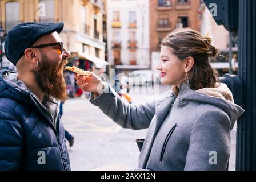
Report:
[[[227,89],[217,92],[231,94]],[[126,104],[106,84],[100,96],[93,98],[91,94],[90,102],[124,128],[149,128],[138,169],[159,171],[225,170],[230,131],[244,111],[225,98],[191,90],[185,83],[177,98],[169,91],[141,105]]]

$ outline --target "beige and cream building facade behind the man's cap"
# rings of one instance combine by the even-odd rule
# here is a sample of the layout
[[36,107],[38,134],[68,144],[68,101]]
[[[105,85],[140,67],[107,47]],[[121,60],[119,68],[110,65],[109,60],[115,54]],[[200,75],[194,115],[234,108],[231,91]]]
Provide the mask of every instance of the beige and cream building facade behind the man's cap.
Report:
[[85,69],[88,65],[103,68],[108,64],[101,0],[0,0],[0,10],[1,26],[6,32],[22,22],[64,22],[60,36],[71,59],[80,60]]

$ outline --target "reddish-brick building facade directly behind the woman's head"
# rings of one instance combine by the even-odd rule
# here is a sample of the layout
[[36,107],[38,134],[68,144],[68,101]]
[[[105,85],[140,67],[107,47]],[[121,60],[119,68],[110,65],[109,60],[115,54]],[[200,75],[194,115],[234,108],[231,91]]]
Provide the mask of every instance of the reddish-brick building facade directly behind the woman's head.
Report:
[[176,28],[201,30],[200,0],[150,0],[150,60],[155,72],[160,43]]

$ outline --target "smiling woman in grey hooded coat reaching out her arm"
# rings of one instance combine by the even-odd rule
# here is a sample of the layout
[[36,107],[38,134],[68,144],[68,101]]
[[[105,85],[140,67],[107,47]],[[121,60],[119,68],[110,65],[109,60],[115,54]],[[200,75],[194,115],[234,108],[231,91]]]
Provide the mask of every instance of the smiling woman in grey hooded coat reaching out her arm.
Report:
[[149,128],[139,156],[139,169],[225,170],[230,157],[230,131],[243,109],[219,84],[210,61],[218,54],[209,37],[175,30],[161,43],[157,69],[161,83],[173,88],[158,100],[126,104],[94,73],[77,76],[77,84],[92,92],[90,102],[118,125]]

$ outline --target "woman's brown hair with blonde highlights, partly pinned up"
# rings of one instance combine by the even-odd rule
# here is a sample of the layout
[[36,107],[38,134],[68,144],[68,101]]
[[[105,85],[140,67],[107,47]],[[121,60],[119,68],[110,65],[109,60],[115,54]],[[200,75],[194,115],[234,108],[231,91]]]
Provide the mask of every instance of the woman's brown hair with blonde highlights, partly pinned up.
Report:
[[[219,50],[211,42],[209,36],[202,36],[190,28],[174,30],[162,40],[161,46],[169,46],[179,60],[185,60],[189,56],[194,58],[195,63],[187,73],[193,90],[215,88],[216,82],[219,82],[218,71],[210,65]],[[174,91],[178,93],[179,89],[175,87]]]

